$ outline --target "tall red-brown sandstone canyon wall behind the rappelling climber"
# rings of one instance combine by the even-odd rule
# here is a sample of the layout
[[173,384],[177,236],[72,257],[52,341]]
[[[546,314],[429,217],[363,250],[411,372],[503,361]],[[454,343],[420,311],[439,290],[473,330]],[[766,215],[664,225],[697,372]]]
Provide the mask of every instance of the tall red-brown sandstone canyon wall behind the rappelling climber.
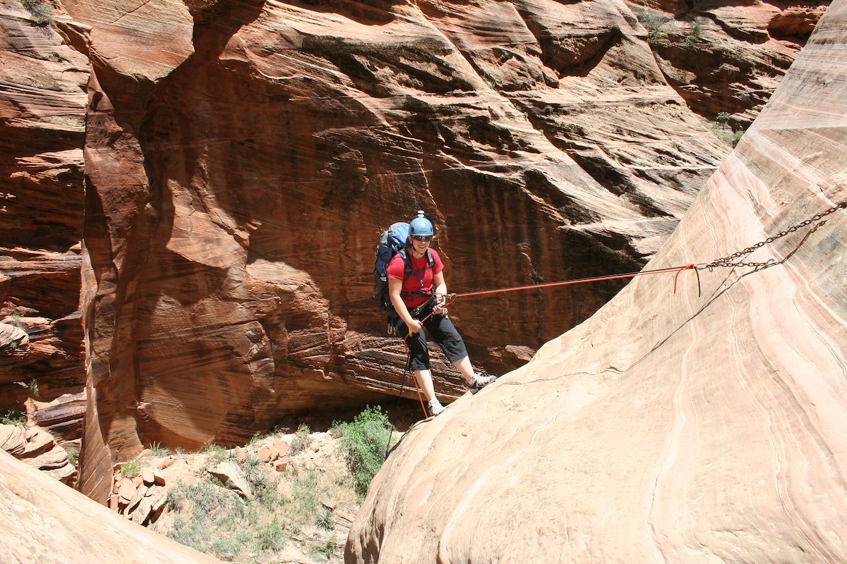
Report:
[[[235,443],[399,392],[373,249],[418,209],[454,292],[638,270],[728,151],[703,118],[749,122],[826,4],[66,1],[62,45],[0,3],[27,38],[3,54],[20,68],[0,90],[19,178],[4,313],[59,334],[49,365],[27,353],[3,383],[31,401],[35,378],[78,421],[87,371],[81,485],[100,498],[153,441]],[[32,172],[47,154],[53,172]],[[500,373],[620,287],[452,315]]]

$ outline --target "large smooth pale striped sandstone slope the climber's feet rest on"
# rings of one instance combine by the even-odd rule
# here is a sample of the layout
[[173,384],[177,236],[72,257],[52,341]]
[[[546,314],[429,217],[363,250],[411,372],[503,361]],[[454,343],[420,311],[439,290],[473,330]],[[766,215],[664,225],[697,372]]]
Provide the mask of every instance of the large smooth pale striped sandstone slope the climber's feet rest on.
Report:
[[[708,263],[847,201],[833,3],[647,268]],[[847,211],[639,277],[403,437],[346,562],[847,561]],[[461,453],[461,455],[457,455]]]

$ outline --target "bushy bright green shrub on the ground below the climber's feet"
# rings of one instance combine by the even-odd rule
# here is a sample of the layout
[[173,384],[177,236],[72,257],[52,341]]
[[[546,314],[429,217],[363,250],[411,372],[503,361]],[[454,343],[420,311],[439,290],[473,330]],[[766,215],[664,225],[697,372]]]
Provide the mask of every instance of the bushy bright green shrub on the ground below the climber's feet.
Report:
[[336,423],[330,432],[340,438],[355,490],[359,496],[364,496],[385,462],[390,437],[388,414],[379,407],[368,406],[352,423]]

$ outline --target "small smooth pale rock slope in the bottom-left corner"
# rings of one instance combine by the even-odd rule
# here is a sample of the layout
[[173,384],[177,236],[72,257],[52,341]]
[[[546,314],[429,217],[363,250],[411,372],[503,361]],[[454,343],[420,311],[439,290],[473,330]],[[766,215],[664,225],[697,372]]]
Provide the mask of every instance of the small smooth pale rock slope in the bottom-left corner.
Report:
[[0,452],[0,530],[4,564],[219,562],[130,523],[6,452]]

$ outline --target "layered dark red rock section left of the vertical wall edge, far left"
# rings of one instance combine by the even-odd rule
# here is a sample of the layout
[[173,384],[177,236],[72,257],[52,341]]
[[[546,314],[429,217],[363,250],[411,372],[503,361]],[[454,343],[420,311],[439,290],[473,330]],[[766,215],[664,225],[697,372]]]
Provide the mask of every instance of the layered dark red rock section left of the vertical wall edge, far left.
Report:
[[[85,56],[0,0],[0,408],[38,410],[85,384],[80,321]],[[3,336],[10,335],[0,329]],[[61,399],[60,399],[61,398]],[[46,413],[41,413],[44,419]],[[51,431],[80,438],[81,412]]]

